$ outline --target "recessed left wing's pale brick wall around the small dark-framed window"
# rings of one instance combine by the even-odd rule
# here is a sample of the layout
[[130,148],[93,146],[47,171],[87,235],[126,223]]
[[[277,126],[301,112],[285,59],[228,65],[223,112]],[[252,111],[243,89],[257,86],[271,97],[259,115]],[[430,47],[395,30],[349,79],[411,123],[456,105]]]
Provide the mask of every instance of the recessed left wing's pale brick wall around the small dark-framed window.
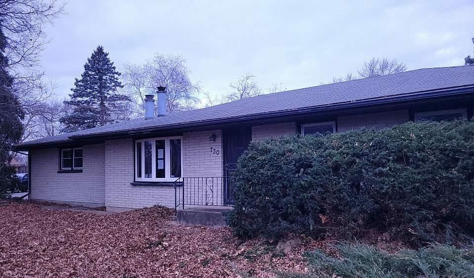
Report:
[[84,145],[82,155],[82,173],[58,174],[59,149],[31,151],[31,198],[103,206],[104,144]]

